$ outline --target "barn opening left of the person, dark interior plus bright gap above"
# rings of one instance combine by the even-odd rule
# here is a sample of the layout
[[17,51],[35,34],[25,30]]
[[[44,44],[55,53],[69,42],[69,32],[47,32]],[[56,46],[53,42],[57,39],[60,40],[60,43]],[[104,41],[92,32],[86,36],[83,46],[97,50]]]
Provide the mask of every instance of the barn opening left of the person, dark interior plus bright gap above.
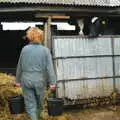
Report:
[[0,72],[16,74],[16,67],[22,48],[28,44],[26,30],[42,22],[1,22],[0,27]]

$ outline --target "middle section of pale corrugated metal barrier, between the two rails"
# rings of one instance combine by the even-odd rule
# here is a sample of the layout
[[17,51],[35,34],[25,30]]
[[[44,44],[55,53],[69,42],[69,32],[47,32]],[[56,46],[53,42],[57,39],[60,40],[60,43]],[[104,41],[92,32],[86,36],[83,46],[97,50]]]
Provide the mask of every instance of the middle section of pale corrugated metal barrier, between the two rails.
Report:
[[56,68],[58,80],[113,76],[111,57],[58,60]]

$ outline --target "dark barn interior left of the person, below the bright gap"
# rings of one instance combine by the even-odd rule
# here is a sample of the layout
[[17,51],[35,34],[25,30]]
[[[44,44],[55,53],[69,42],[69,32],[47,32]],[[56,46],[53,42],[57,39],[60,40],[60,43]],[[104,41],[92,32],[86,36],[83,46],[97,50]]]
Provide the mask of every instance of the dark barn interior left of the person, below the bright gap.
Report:
[[0,31],[0,71],[15,74],[21,48],[27,44],[22,30]]

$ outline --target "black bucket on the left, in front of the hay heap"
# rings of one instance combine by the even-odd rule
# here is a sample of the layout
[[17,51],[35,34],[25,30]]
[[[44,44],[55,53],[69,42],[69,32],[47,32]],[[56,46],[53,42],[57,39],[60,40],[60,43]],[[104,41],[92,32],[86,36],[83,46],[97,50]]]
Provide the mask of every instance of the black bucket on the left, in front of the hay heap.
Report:
[[25,112],[24,98],[22,95],[9,97],[8,106],[11,114],[20,114]]

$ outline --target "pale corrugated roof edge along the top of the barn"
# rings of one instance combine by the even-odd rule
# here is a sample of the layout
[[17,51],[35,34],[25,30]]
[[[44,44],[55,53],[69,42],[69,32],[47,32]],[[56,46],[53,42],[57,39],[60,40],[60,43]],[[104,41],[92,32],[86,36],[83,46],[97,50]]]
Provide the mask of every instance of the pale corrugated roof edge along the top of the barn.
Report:
[[53,5],[120,6],[120,0],[0,0],[0,3],[28,3]]

